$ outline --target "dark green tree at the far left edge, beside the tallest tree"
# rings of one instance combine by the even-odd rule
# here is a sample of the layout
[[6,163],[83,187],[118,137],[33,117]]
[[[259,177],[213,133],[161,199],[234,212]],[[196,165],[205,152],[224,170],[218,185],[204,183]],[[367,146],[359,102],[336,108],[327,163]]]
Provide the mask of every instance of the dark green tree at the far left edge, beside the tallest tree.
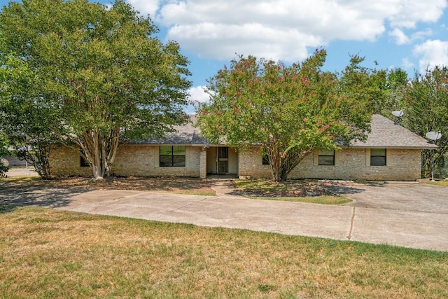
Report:
[[10,146],[21,160],[34,166],[43,179],[50,179],[49,158],[59,140],[55,134],[57,110],[43,106],[32,83],[27,62],[14,55],[0,57],[0,125]]

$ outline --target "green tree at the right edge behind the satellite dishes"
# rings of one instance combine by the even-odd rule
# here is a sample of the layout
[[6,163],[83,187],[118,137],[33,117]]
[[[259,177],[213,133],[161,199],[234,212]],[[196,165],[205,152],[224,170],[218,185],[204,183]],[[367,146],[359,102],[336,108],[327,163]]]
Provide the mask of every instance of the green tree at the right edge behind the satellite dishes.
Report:
[[[444,164],[448,153],[448,67],[426,69],[416,74],[404,92],[403,125],[425,137],[430,131],[442,133],[434,150],[435,165]],[[422,175],[430,176],[433,150],[423,151]]]

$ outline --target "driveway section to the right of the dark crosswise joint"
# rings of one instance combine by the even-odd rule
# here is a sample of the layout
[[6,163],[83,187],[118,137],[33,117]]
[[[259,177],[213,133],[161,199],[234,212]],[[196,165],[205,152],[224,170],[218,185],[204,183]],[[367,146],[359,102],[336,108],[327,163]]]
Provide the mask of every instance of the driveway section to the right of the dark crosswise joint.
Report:
[[351,239],[448,251],[448,188],[419,183],[327,183],[353,200]]

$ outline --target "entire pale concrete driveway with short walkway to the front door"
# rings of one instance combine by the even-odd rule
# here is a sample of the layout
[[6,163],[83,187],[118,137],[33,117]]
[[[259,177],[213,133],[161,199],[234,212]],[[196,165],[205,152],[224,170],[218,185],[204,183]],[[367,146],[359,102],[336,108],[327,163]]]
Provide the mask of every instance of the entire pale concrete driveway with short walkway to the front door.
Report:
[[249,200],[228,195],[232,190],[222,181],[214,185],[219,196],[129,190],[24,190],[21,186],[8,191],[0,188],[0,202],[448,251],[448,188],[389,183],[325,183],[323,187],[351,197],[353,202],[329,206]]

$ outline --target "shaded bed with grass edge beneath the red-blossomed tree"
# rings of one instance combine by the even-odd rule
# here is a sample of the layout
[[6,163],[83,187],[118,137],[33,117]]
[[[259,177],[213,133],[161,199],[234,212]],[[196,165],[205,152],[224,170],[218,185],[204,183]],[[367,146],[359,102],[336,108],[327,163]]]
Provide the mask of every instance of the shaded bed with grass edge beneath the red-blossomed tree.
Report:
[[309,202],[315,204],[345,204],[350,199],[328,193],[316,181],[290,180],[274,182],[268,180],[235,180],[235,194],[263,200]]

